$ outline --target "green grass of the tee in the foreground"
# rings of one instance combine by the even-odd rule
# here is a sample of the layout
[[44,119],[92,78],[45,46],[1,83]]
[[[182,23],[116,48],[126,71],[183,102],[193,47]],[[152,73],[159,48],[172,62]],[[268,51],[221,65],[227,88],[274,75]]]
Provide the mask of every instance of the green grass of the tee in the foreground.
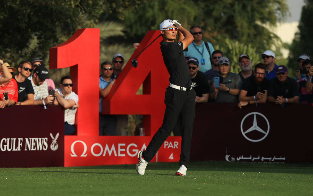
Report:
[[0,195],[313,195],[312,164],[149,163],[69,168],[0,168]]

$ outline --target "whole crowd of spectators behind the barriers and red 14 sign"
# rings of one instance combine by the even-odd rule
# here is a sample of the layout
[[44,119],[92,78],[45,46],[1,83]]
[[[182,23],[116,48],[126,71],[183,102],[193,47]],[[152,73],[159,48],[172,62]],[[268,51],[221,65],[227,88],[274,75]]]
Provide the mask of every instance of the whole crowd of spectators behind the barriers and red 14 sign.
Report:
[[[273,103],[282,107],[292,103],[313,103],[313,61],[300,54],[299,70],[295,78],[289,77],[288,68],[275,63],[275,53],[266,50],[260,54],[263,63],[252,62],[248,54],[239,56],[239,73],[230,72],[231,62],[221,50],[202,41],[202,29],[192,26],[194,41],[184,50],[196,103],[238,103],[242,108],[249,104]],[[139,43],[134,43],[137,48]],[[65,135],[75,132],[74,122],[78,96],[72,91],[70,76],[61,78],[60,88],[48,77],[48,69],[40,57],[22,61],[18,68],[0,59],[0,108],[11,105],[61,105],[65,110]],[[99,77],[99,135],[127,135],[127,115],[102,114],[102,99],[110,92],[122,71],[124,56],[116,53],[112,61],[101,63]],[[33,74],[32,74],[33,72]]]

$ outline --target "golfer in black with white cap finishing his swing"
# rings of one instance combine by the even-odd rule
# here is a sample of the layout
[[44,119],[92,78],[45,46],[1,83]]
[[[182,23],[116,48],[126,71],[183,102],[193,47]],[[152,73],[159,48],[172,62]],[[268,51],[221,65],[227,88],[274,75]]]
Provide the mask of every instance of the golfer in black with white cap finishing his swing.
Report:
[[[192,89],[189,68],[182,51],[193,41],[193,37],[175,20],[164,20],[160,24],[160,32],[163,37],[160,43],[163,61],[170,74],[170,84],[165,91],[165,114],[162,126],[154,134],[146,150],[138,152],[136,170],[138,174],[145,174],[148,162],[171,134],[181,113],[182,143],[180,167],[176,175],[185,176],[189,162],[196,93]],[[177,35],[178,42],[175,42]]]

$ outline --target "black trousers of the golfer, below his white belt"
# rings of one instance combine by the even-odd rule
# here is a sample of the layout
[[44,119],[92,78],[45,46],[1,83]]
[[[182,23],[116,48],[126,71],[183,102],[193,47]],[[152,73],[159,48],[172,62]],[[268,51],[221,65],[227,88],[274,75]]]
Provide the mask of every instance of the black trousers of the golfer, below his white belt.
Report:
[[162,126],[154,134],[149,145],[142,154],[147,162],[151,161],[163,142],[171,134],[177,123],[178,116],[181,113],[182,143],[179,165],[185,165],[188,167],[192,128],[195,117],[195,98],[196,92],[193,89],[190,91],[180,91],[172,87],[167,87],[164,100],[166,108]]

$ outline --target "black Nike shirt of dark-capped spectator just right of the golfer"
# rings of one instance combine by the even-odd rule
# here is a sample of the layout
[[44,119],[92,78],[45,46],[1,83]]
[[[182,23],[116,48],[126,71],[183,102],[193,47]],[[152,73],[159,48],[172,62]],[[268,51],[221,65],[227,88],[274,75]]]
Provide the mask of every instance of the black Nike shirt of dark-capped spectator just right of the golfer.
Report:
[[196,77],[191,78],[191,82],[192,88],[195,89],[198,97],[209,93],[209,83],[204,73],[198,71]]

